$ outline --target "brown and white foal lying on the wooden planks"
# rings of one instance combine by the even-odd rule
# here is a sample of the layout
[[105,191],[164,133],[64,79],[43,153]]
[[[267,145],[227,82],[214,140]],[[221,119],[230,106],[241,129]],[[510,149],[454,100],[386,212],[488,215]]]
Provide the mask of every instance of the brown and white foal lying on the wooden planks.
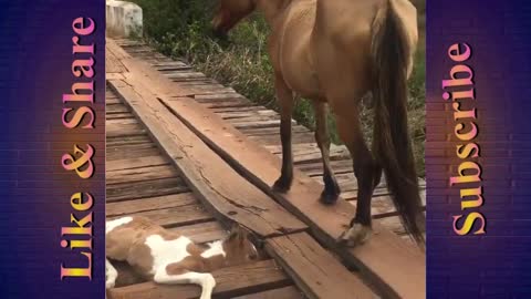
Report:
[[157,283],[195,283],[200,299],[210,299],[216,281],[212,270],[258,258],[249,234],[235,226],[225,239],[206,246],[171,233],[145,217],[123,217],[106,223],[106,288],[114,288],[118,272],[108,259],[127,261]]

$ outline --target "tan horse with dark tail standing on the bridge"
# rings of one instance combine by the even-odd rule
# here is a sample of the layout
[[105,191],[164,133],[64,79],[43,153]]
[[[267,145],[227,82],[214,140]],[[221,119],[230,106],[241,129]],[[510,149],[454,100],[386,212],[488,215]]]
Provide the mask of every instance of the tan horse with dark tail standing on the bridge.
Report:
[[[407,131],[407,78],[417,44],[417,16],[408,0],[220,0],[212,25],[228,31],[258,9],[269,25],[269,53],[281,107],[282,173],[273,188],[292,183],[291,114],[294,95],[311,99],[315,140],[323,156],[321,200],[333,204],[340,188],[330,166],[327,105],[354,161],[357,208],[341,237],[350,246],[371,236],[371,198],[382,171],[408,233],[424,243],[417,174]],[[360,124],[358,103],[375,102],[373,153]],[[374,156],[373,156],[374,155]]]

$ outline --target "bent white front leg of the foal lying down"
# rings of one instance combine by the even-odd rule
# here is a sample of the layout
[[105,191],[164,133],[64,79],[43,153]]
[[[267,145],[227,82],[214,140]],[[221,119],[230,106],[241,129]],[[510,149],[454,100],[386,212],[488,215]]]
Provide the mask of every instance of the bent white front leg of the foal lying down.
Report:
[[216,280],[211,274],[200,274],[187,271],[183,268],[168,267],[159,269],[153,280],[157,283],[195,283],[202,288],[200,299],[210,299],[212,297],[212,290],[216,287]]

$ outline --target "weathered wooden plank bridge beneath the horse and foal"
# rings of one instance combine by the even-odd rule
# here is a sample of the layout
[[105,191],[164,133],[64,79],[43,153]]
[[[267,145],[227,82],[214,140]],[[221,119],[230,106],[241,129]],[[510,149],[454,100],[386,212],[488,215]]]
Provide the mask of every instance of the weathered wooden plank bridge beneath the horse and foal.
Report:
[[[295,178],[277,194],[269,187],[281,165],[274,111],[139,41],[107,40],[106,75],[107,218],[143,215],[197,243],[222,238],[236,220],[261,240],[263,259],[214,272],[215,298],[425,298],[425,255],[405,236],[385,183],[373,199],[371,241],[336,246],[356,204],[344,146],[331,148],[343,199],[323,206],[320,151],[294,122]],[[200,295],[118,266],[111,299]]]

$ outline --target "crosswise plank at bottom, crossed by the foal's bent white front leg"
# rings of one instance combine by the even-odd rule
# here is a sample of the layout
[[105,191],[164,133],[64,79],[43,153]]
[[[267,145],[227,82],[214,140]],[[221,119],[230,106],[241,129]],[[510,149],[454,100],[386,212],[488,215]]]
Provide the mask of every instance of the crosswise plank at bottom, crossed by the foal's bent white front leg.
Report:
[[[289,278],[273,260],[227,267],[212,272],[216,279],[216,298],[235,298],[256,291],[290,285]],[[156,285],[144,282],[108,290],[110,299],[187,299],[198,298],[200,288],[195,285]]]

